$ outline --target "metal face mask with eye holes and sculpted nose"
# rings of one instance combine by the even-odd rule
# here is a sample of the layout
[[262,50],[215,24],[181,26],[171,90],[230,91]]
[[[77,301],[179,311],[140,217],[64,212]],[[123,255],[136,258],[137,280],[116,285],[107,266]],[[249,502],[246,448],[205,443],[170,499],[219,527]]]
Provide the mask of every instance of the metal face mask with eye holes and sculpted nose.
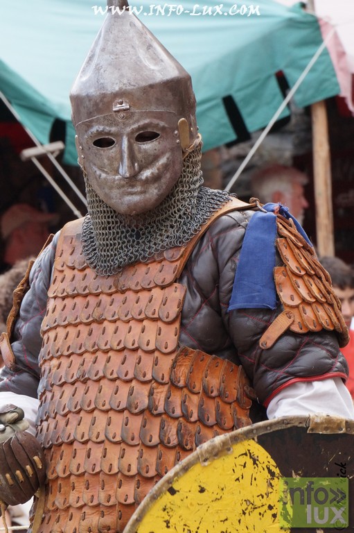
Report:
[[173,112],[125,110],[83,121],[76,131],[87,180],[118,213],[154,209],[182,172]]

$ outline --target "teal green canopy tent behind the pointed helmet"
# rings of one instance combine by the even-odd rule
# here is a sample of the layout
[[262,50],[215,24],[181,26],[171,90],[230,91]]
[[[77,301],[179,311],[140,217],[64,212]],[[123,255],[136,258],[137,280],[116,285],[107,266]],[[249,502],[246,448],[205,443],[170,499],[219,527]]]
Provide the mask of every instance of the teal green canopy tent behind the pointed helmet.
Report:
[[[87,0],[18,0],[0,6],[0,91],[43,144],[55,119],[65,122],[64,162],[69,164],[77,158],[69,91],[107,10],[105,1],[95,1],[96,6]],[[317,19],[299,4],[141,0],[132,6],[191,74],[204,150],[264,128],[283,101],[277,74],[281,71],[292,87],[322,43]],[[338,92],[325,49],[294,102],[304,107]],[[285,107],[279,118],[288,114]]]

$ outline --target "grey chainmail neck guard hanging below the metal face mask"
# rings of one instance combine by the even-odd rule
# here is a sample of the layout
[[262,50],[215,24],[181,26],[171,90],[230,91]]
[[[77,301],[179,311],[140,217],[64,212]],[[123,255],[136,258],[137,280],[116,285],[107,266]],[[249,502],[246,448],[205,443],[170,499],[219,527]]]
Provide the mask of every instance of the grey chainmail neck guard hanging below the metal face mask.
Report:
[[222,204],[227,191],[202,187],[200,146],[184,160],[182,174],[170,194],[152,211],[123,215],[104,203],[84,171],[89,214],[82,225],[82,249],[89,267],[101,276],[127,264],[147,262],[174,246],[184,246]]

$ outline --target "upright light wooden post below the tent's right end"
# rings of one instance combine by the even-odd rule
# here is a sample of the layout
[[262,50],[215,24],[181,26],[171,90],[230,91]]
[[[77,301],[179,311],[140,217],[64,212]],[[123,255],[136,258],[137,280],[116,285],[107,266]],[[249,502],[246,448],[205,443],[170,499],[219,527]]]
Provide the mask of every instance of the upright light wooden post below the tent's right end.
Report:
[[332,176],[326,102],[311,105],[312,153],[318,255],[335,255]]

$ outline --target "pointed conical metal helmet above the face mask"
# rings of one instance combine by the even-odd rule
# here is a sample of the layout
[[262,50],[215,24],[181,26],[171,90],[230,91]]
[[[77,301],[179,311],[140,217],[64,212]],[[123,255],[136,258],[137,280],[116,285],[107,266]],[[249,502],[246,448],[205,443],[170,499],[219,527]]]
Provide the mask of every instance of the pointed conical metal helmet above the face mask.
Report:
[[[71,90],[73,125],[102,115],[124,119],[137,112],[136,120],[143,121],[145,112],[167,112],[169,117],[172,112],[182,149],[192,147],[198,133],[191,76],[125,0],[108,0],[107,5],[105,22]],[[79,130],[82,135],[83,128]]]

